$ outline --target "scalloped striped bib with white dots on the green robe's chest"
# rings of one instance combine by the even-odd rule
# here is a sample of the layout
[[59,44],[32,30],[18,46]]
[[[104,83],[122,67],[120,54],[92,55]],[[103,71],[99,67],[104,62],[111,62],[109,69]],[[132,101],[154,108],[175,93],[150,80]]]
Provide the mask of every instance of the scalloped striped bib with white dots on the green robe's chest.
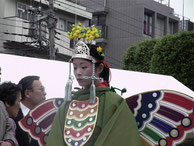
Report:
[[64,140],[68,146],[81,146],[90,139],[96,125],[98,104],[98,97],[94,104],[89,100],[72,100],[64,126]]

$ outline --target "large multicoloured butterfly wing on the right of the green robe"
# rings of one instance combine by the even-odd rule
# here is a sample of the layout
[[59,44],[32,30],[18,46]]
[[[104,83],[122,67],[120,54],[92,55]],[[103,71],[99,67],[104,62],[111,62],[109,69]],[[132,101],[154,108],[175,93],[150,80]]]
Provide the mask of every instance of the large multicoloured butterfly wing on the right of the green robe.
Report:
[[193,97],[177,91],[158,90],[126,99],[133,112],[143,145],[175,145],[193,128]]

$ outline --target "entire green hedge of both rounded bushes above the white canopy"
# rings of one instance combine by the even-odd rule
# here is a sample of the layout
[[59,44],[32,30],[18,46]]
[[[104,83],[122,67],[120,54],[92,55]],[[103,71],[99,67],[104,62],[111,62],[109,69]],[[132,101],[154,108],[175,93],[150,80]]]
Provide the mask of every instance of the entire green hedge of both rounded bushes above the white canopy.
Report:
[[194,31],[129,47],[123,56],[123,69],[171,75],[194,90]]

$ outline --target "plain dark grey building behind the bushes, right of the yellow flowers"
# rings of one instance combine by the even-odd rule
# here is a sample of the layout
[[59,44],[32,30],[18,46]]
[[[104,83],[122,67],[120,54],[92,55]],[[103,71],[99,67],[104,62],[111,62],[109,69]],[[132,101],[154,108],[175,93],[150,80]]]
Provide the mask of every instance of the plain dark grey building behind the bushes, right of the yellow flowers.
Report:
[[179,32],[174,10],[154,0],[80,0],[93,13],[91,24],[102,29],[98,40],[112,68],[122,67],[129,46],[148,38]]

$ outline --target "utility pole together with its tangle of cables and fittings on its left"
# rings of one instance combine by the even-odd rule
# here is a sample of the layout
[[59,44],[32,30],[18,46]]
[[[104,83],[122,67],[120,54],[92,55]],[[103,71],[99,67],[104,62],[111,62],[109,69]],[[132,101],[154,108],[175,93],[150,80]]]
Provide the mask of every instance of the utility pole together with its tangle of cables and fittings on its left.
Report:
[[[55,29],[56,29],[56,18],[54,14],[54,0],[49,0],[49,9],[46,11],[41,11],[41,0],[38,9],[33,8],[32,6],[32,0],[30,1],[30,22],[32,22],[31,27],[31,35],[34,37],[34,39],[37,40],[39,47],[44,48],[43,41],[47,41],[46,48],[49,49],[49,59],[55,60]],[[40,17],[39,17],[40,15]],[[37,20],[35,20],[37,18]],[[44,25],[43,22],[46,22],[47,24]],[[42,28],[47,27],[49,30],[49,38],[44,38],[42,35]],[[46,29],[46,28],[45,28]],[[45,31],[46,32],[46,31]],[[44,33],[45,33],[44,32]],[[45,36],[46,37],[46,36]]]

